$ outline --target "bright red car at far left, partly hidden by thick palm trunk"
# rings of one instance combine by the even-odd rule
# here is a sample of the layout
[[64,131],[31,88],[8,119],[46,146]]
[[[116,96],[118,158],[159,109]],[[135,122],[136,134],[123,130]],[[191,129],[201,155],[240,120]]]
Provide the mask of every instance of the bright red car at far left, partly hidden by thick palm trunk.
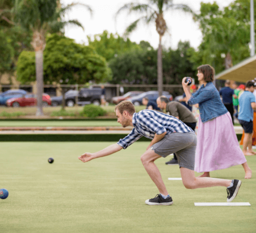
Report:
[[[51,105],[50,95],[43,93],[42,99],[43,99],[43,106]],[[6,101],[6,105],[12,106],[12,107],[36,106],[37,105],[36,95],[34,95],[33,93],[28,93],[26,95],[23,95],[20,98],[11,98],[8,101]]]

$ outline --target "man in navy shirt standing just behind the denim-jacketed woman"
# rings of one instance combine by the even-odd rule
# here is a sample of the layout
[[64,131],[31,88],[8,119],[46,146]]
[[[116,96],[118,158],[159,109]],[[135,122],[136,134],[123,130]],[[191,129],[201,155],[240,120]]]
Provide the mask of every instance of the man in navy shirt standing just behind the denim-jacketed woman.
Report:
[[237,99],[237,95],[234,94],[234,90],[230,88],[230,81],[226,80],[225,82],[225,87],[223,87],[220,90],[220,95],[222,96],[222,101],[223,104],[225,105],[225,107],[227,108],[227,110],[229,111],[231,118],[232,118],[232,122],[234,125],[234,106],[233,106],[233,98]]

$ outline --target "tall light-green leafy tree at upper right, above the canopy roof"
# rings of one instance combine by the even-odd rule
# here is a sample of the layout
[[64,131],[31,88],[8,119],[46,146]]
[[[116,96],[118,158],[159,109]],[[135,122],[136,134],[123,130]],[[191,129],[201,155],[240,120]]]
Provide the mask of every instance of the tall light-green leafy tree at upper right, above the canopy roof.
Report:
[[212,64],[218,73],[250,56],[250,0],[235,0],[223,11],[216,2],[201,3],[194,19],[203,34],[199,46],[203,64]]

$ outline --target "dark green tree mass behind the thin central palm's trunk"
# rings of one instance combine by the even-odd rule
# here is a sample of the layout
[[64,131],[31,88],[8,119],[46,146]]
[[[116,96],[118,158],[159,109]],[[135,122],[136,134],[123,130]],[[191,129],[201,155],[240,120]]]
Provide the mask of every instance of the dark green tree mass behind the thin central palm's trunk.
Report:
[[[181,84],[184,76],[194,76],[196,68],[190,61],[193,48],[179,42],[178,49],[163,50],[163,83]],[[130,51],[109,61],[113,84],[157,84],[156,50]]]

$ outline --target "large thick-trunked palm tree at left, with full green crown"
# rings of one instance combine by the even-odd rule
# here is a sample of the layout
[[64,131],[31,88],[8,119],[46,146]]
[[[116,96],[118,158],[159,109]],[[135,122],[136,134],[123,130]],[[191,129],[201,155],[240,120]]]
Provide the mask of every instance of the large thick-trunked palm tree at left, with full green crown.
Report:
[[[45,49],[45,36],[47,32],[61,32],[66,24],[75,24],[83,28],[76,20],[63,21],[64,13],[73,5],[61,7],[59,0],[15,0],[14,21],[33,32],[31,45],[35,51],[36,82],[37,82],[37,116],[43,115],[42,94],[44,86],[43,60]],[[91,8],[85,6],[90,13]]]

